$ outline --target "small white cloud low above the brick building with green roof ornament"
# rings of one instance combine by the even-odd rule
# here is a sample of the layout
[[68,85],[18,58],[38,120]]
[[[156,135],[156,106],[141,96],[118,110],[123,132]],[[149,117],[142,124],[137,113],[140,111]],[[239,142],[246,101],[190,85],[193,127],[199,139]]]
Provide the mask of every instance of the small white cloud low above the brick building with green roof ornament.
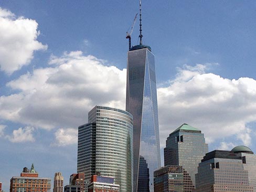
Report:
[[19,127],[19,129],[13,131],[12,135],[7,135],[6,138],[13,143],[34,142],[34,130],[34,127],[30,126],[26,126],[25,128]]

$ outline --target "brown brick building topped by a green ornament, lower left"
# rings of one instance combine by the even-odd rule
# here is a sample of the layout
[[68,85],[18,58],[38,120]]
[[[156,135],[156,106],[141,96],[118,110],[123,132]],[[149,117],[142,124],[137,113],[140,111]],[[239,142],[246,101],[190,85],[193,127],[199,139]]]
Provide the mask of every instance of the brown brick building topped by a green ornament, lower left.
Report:
[[10,192],[50,192],[51,179],[38,177],[32,164],[31,169],[24,167],[20,177],[10,179]]

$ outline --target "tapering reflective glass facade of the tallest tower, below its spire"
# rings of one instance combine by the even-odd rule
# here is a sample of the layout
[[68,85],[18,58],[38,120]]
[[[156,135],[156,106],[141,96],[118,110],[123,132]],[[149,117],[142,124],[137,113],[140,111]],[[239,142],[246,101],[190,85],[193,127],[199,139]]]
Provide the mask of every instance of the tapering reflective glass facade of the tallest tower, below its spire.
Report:
[[[126,111],[133,115],[133,189],[138,191],[138,178],[148,180],[140,173],[140,156],[148,166],[150,191],[154,191],[155,169],[161,166],[156,95],[155,58],[147,49],[128,52]],[[145,177],[144,177],[144,176]],[[144,177],[144,178],[142,178]]]

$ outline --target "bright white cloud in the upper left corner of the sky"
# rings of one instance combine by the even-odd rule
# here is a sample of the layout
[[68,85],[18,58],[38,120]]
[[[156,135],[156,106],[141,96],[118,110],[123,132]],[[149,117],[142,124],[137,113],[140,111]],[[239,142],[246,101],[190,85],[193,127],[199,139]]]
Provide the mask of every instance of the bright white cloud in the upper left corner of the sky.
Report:
[[0,7],[0,23],[0,69],[7,74],[28,65],[34,51],[47,49],[37,41],[40,32],[35,20],[16,17]]

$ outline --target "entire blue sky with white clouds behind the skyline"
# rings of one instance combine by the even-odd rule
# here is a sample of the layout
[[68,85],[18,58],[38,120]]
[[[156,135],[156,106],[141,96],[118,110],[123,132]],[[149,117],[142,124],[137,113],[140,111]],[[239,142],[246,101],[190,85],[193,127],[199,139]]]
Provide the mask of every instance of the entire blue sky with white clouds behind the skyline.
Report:
[[[147,0],[161,150],[183,123],[209,150],[256,152],[256,2]],[[77,127],[94,105],[125,109],[126,31],[138,1],[0,1],[0,182],[77,167]],[[132,44],[138,43],[138,20]],[[163,162],[163,157],[162,157]]]

